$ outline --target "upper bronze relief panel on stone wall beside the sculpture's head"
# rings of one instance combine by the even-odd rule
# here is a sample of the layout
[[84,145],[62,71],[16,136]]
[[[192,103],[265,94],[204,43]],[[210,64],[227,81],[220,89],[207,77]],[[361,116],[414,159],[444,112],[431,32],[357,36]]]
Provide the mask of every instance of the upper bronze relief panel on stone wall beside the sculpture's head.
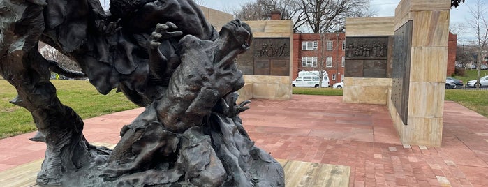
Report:
[[254,59],[290,59],[290,38],[254,38]]

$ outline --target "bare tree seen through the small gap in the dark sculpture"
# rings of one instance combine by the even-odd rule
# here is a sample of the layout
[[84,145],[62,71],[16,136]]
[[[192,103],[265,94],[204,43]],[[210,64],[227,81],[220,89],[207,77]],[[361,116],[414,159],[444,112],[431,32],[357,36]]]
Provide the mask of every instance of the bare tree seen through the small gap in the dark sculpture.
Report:
[[69,57],[66,57],[66,55],[62,54],[61,52],[49,45],[45,45],[43,48],[41,48],[40,53],[43,54],[43,57],[45,59],[56,61],[62,68],[74,71],[81,71],[80,66],[78,66],[75,61],[71,60]]

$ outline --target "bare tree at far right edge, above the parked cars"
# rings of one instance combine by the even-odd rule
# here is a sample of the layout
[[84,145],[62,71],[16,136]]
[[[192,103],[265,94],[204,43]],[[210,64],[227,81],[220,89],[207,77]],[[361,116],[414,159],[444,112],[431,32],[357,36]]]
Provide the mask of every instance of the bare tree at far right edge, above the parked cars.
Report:
[[475,36],[475,45],[478,47],[478,55],[477,55],[477,66],[478,69],[478,78],[476,80],[476,87],[480,87],[480,66],[482,59],[485,59],[485,55],[487,55],[487,45],[488,45],[488,20],[485,17],[486,13],[488,12],[487,6],[478,0],[475,4],[475,7],[468,6],[469,8],[469,17],[466,20],[466,24],[468,25],[471,33]]

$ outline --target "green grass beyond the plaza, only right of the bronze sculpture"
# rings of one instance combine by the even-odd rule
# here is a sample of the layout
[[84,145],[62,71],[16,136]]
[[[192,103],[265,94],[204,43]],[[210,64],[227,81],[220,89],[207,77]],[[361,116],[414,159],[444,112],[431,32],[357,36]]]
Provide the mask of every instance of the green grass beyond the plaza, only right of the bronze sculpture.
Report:
[[[342,89],[294,87],[293,94],[342,96]],[[452,100],[488,117],[488,90],[448,89],[444,100]]]

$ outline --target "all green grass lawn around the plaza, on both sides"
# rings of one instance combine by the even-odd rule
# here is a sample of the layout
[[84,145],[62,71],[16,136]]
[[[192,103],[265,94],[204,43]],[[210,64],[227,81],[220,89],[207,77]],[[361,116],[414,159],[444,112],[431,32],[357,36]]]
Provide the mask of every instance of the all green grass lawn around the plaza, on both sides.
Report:
[[[59,100],[73,107],[83,119],[138,107],[122,93],[112,91],[106,96],[101,95],[88,81],[52,80],[52,83],[57,87]],[[17,94],[14,87],[0,80],[0,88],[0,139],[36,130],[27,110],[8,103]],[[323,96],[342,96],[342,91],[332,88],[293,88],[293,94]],[[445,100],[453,100],[488,117],[488,90],[450,89],[445,91]]]

